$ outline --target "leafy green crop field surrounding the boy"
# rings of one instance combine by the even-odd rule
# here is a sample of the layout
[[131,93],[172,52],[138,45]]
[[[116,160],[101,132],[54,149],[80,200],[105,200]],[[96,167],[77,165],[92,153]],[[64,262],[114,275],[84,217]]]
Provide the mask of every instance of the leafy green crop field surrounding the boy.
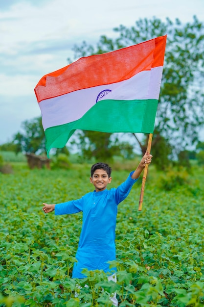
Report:
[[[204,168],[161,174],[151,165],[141,212],[141,179],[134,185],[118,207],[116,283],[101,271],[72,279],[82,213],[42,211],[90,192],[89,169],[0,174],[0,306],[111,307],[114,291],[120,307],[204,306]],[[128,173],[113,170],[109,188]]]

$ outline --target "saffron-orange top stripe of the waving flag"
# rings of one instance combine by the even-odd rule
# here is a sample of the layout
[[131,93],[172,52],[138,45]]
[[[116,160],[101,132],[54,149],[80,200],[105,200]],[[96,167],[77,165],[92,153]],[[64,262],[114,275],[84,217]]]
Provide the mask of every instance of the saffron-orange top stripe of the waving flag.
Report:
[[104,84],[127,80],[141,71],[163,66],[166,35],[104,54],[83,57],[38,82],[38,102]]

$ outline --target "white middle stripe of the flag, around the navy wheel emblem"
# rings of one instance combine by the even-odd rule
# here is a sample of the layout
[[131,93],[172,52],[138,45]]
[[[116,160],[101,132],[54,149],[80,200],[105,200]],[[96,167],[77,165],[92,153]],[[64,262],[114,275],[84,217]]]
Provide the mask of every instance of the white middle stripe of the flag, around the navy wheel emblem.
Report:
[[144,100],[159,99],[163,67],[143,71],[121,82],[78,90],[39,102],[44,129],[80,119],[95,103],[98,94],[109,89],[104,99]]

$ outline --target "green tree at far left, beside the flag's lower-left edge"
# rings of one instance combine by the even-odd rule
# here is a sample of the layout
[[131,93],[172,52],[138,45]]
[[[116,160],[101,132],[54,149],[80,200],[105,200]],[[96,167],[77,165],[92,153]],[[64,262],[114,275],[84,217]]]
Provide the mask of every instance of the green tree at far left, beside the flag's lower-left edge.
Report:
[[16,145],[16,152],[45,153],[45,132],[41,117],[24,121],[22,128],[24,132],[18,132],[14,136],[13,143]]

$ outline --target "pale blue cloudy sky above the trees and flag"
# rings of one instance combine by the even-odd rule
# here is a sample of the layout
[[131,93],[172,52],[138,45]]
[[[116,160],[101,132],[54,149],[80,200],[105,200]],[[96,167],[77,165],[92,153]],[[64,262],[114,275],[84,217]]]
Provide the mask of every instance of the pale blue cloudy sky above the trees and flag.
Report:
[[94,45],[114,27],[154,16],[204,21],[204,0],[0,0],[0,144],[41,116],[34,88],[68,65],[72,48]]

